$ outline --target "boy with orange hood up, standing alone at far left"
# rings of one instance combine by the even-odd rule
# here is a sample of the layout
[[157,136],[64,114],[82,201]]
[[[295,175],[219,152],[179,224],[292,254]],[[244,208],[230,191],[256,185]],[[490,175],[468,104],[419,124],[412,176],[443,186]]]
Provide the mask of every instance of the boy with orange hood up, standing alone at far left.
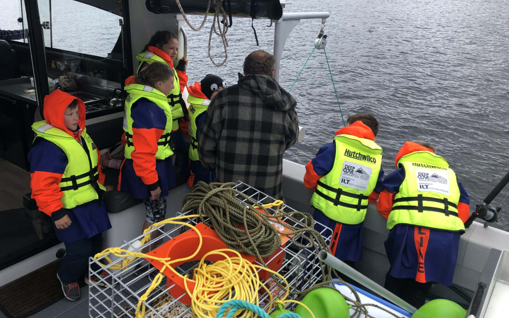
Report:
[[[64,296],[74,301],[80,298],[78,278],[88,274],[88,258],[102,250],[102,232],[111,228],[101,202],[104,175],[80,99],[55,90],[44,98],[44,118],[32,125],[36,138],[29,153],[30,186],[39,210],[51,217],[56,237],[65,244],[56,276]],[[98,266],[92,270],[107,276]],[[89,280],[98,278],[85,278]]]

